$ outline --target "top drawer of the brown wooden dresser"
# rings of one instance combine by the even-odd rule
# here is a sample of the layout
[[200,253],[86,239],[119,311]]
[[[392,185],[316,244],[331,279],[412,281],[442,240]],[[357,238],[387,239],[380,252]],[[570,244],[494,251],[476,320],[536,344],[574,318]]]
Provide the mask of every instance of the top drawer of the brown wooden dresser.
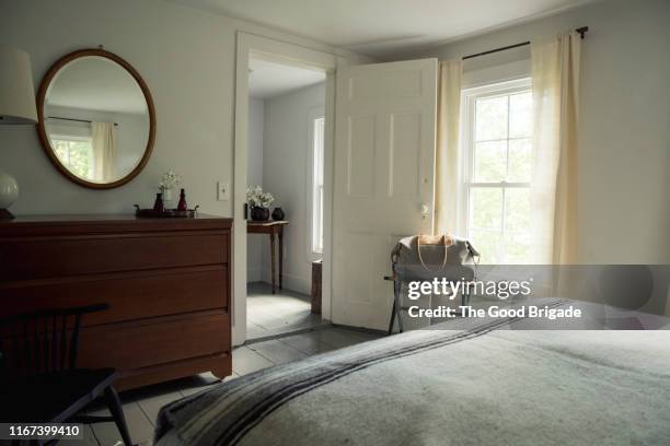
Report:
[[0,239],[0,280],[228,263],[229,233]]

